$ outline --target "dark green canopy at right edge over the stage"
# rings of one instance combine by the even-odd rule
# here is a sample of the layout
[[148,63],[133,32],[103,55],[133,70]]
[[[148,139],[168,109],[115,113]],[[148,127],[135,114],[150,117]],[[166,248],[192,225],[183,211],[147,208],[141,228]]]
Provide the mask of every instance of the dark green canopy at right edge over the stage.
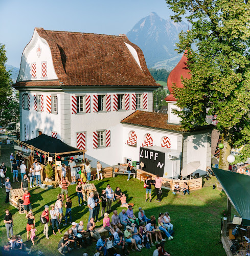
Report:
[[242,218],[244,226],[250,226],[250,176],[212,168],[226,196]]

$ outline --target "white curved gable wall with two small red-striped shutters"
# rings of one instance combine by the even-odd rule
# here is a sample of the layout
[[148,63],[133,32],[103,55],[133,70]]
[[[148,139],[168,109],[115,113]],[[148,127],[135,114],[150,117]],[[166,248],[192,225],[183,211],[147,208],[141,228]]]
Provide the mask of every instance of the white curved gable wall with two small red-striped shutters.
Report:
[[[37,55],[37,48],[40,47],[40,56]],[[47,61],[47,78],[41,77],[41,63]],[[31,78],[31,65],[36,63],[36,78]],[[16,82],[22,80],[54,80],[58,79],[53,65],[50,47],[46,40],[41,38],[36,30],[29,44],[26,46],[21,57],[20,72]]]

